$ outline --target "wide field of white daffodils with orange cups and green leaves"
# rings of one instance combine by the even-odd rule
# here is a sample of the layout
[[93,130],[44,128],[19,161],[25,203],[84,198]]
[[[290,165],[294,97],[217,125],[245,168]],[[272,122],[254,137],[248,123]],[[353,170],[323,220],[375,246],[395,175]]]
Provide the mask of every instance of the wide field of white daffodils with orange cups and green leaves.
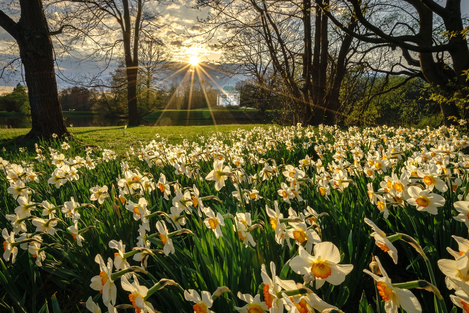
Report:
[[4,151],[0,311],[469,312],[468,145],[297,125]]

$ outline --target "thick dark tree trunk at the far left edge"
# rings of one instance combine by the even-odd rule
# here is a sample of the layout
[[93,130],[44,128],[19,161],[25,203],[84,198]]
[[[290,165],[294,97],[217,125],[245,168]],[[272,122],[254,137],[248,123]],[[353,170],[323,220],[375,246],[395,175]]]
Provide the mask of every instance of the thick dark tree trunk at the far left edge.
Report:
[[41,0],[19,0],[20,18],[15,22],[0,10],[0,27],[19,48],[31,107],[27,137],[68,134],[62,116],[54,72],[53,45]]

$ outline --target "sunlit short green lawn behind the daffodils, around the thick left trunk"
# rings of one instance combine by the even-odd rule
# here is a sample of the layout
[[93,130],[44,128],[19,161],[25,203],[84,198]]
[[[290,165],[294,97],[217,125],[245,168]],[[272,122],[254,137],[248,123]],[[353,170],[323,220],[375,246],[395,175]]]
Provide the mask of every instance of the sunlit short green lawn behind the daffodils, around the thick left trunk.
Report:
[[[77,140],[85,145],[98,145],[116,152],[123,152],[129,146],[136,146],[139,142],[148,143],[159,134],[168,139],[171,144],[182,144],[182,137],[195,140],[196,137],[210,136],[213,132],[230,132],[232,130],[251,130],[254,127],[265,126],[263,124],[230,124],[210,126],[135,126],[127,127],[124,135],[123,126],[111,127],[69,127],[68,130]],[[0,149],[5,147],[8,151],[17,150],[19,147],[27,147],[34,152],[34,144],[37,140],[17,140],[19,136],[27,134],[29,129],[0,129]],[[182,137],[181,137],[182,136]]]

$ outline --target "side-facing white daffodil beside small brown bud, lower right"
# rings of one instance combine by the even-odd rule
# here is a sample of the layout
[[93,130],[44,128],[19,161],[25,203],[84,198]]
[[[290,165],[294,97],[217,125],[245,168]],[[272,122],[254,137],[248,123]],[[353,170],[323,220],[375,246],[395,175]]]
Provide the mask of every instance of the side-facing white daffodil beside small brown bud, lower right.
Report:
[[384,308],[386,313],[398,313],[400,307],[407,313],[422,312],[422,307],[420,306],[420,303],[418,303],[418,300],[412,291],[393,287],[391,284],[391,279],[388,277],[386,271],[381,266],[379,259],[377,257],[375,257],[375,259],[383,277],[375,275],[366,269],[364,269],[363,272],[373,277],[373,279],[377,282],[376,288],[378,289],[381,298],[383,298],[385,301]]

